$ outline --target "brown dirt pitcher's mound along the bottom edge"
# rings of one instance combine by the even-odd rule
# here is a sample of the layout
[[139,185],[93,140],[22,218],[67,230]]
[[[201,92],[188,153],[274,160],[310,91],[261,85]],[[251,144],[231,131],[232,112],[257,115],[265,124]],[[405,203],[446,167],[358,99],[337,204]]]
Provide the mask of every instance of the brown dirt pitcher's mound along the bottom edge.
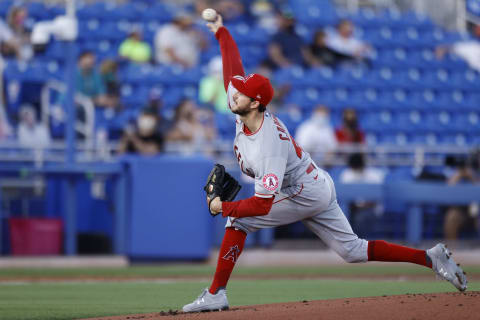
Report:
[[[316,300],[235,307],[228,311],[185,314],[178,311],[96,318],[97,320],[166,319],[480,319],[480,291]],[[94,319],[90,319],[94,320]]]

